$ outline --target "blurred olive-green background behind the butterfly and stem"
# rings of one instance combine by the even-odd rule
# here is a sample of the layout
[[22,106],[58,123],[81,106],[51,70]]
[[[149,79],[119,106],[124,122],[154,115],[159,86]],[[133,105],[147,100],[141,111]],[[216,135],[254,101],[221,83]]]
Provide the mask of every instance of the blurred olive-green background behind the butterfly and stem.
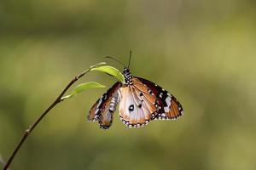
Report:
[[[50,112],[13,170],[256,169],[255,8],[253,0],[1,0],[0,153],[7,161],[72,77],[107,55],[127,62],[131,49],[133,75],[177,96],[184,116],[130,129],[116,113],[102,130],[86,116],[107,89],[90,90]],[[88,81],[116,80],[91,72],[80,82]]]

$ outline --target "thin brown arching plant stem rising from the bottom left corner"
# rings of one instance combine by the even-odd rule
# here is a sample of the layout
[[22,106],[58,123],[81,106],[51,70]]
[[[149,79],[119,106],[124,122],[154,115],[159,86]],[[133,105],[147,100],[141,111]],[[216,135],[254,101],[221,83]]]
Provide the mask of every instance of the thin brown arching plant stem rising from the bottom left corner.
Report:
[[91,69],[96,68],[98,65],[105,65],[106,63],[99,63],[97,65],[92,65],[90,66],[89,69],[87,69],[86,71],[82,72],[81,74],[79,74],[79,76],[74,77],[73,80],[71,82],[69,82],[67,84],[67,87],[64,88],[64,90],[62,91],[62,93],[58,96],[57,99],[55,99],[55,101],[49,106],[48,109],[46,109],[43,114],[41,116],[38,117],[37,121],[34,122],[32,124],[31,127],[27,128],[25,133],[23,134],[22,139],[20,140],[20,143],[16,146],[15,150],[13,151],[13,154],[9,157],[9,160],[7,161],[7,163],[5,164],[5,166],[3,167],[3,170],[8,170],[8,167],[10,166],[10,164],[12,163],[12,161],[14,160],[17,152],[20,150],[20,147],[22,146],[22,144],[26,141],[26,138],[32,133],[32,131],[34,130],[35,127],[38,126],[38,123],[41,122],[44,119],[44,116],[46,116],[49,111],[51,111],[55,105],[58,105],[59,103],[61,103],[61,101],[64,101],[65,99],[62,98],[64,94],[66,94],[67,90],[73,85],[73,83],[77,82],[81,77],[84,77],[84,75],[91,71]]

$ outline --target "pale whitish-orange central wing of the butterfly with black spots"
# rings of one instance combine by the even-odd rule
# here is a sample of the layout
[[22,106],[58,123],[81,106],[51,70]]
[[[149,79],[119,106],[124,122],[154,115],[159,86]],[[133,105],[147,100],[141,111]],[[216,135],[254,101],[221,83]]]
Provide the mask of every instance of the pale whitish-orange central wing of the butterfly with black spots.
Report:
[[[138,82],[133,78],[132,82]],[[143,127],[156,116],[156,96],[148,91],[141,82],[137,86],[125,86],[119,89],[119,116],[128,127]]]

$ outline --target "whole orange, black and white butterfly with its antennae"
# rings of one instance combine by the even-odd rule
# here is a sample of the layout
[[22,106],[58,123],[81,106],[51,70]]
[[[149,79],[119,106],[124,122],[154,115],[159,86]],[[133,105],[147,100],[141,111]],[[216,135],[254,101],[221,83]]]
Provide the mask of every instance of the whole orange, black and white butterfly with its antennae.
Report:
[[89,111],[88,121],[98,122],[101,128],[108,129],[118,105],[119,118],[127,127],[143,127],[153,120],[175,120],[182,116],[183,107],[172,94],[154,82],[131,75],[130,62],[131,54],[128,67],[123,70],[125,82],[114,83],[96,101]]

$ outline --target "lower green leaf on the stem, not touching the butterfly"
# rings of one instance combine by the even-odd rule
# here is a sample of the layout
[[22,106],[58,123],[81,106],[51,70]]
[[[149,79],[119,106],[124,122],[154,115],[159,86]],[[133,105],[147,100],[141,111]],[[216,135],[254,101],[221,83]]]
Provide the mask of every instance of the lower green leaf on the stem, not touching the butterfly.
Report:
[[77,95],[81,92],[84,92],[85,90],[91,89],[91,88],[106,88],[106,86],[98,83],[98,82],[85,82],[82,84],[79,84],[78,86],[76,86],[73,89],[73,92],[67,96],[64,96],[61,98],[61,101],[63,101],[64,99],[70,99],[72,98],[74,95]]

